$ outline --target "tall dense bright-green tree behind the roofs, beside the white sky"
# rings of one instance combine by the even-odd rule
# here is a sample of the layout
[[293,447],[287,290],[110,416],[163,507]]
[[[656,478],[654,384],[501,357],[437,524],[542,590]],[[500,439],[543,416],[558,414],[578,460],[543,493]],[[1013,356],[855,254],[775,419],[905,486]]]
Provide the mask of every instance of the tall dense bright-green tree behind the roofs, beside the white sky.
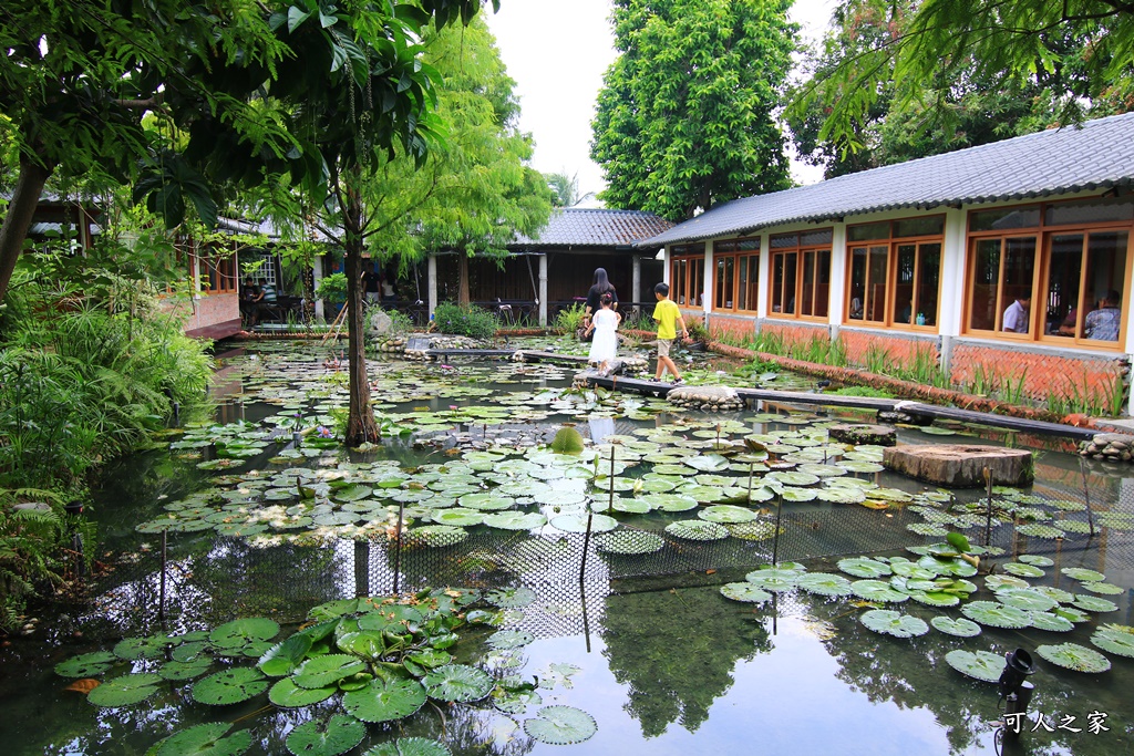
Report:
[[773,111],[796,27],[790,0],[615,0],[591,156],[601,198],[679,221],[788,186]]

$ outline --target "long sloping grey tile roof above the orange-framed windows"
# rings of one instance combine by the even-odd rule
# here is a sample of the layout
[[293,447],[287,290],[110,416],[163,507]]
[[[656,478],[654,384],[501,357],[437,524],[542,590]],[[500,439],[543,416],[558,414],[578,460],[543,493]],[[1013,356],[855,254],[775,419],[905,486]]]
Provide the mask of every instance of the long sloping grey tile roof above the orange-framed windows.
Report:
[[638,247],[902,207],[1047,197],[1134,182],[1134,112],[734,199]]

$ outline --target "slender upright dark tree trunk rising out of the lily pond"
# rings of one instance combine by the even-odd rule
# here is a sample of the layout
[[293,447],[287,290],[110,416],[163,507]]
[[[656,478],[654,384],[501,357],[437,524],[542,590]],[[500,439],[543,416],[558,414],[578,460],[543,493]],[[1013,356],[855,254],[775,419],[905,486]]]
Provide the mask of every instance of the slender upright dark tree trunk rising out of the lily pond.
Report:
[[366,377],[366,341],[363,318],[362,291],[362,203],[354,187],[347,193],[347,207],[344,213],[346,231],[346,248],[342,269],[347,277],[347,356],[350,373],[350,407],[347,410],[348,447],[357,447],[364,442],[375,442],[379,439],[378,424],[374,422],[374,410],[370,405],[370,381]]

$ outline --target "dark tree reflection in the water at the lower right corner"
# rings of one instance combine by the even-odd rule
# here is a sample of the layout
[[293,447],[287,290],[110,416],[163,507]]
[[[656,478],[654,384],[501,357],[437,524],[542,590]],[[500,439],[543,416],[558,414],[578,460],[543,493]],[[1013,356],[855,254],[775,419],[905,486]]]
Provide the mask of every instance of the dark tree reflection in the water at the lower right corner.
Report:
[[[839,603],[828,604],[829,610],[819,608],[818,602],[815,605],[816,613],[820,614],[829,611],[831,615],[836,615],[847,611],[846,605]],[[926,621],[931,617],[926,612],[913,613]],[[894,702],[904,710],[928,708],[946,729],[950,753],[954,754],[979,750],[978,738],[988,747],[992,739],[991,723],[1000,717],[1001,710],[998,707],[995,685],[962,677],[946,663],[945,655],[955,648],[1005,653],[1021,645],[1034,649],[1035,645],[1042,643],[1063,640],[1052,640],[1047,636],[1038,644],[1018,634],[998,632],[989,628],[974,639],[976,643],[947,637],[934,630],[921,638],[897,640],[868,630],[855,614],[838,619],[838,632],[824,642],[828,652],[839,664],[838,679],[855,690],[861,690],[872,703]],[[1029,707],[1027,721],[1022,725],[1025,734],[1022,736],[1021,744],[1026,748],[1016,753],[1027,753],[1031,756],[1072,751],[1076,756],[1115,753],[1116,744],[1122,742],[1118,738],[1127,736],[1119,734],[1114,739],[1088,737],[1086,714],[1095,708],[1108,711],[1107,725],[1112,725],[1114,732],[1122,732],[1129,721],[1128,713],[1118,710],[1119,706],[1125,710],[1129,707],[1129,699],[1125,694],[1122,698],[1125,703],[1107,706],[1098,695],[1100,687],[1094,681],[1089,682],[1091,678],[1075,672],[1061,672],[1050,664],[1044,669],[1042,660],[1039,664],[1041,672],[1032,678],[1036,686],[1035,698]],[[1116,670],[1111,670],[1107,674],[1115,672]],[[1128,690],[1120,681],[1112,682],[1115,685],[1110,687],[1115,690]],[[1091,688],[1083,687],[1086,685]],[[1112,698],[1118,699],[1117,695]],[[1032,733],[1030,731],[1035,727],[1038,713],[1043,713],[1051,727],[1059,724],[1057,714],[1072,714],[1077,717],[1073,727],[1083,728],[1083,732],[1072,733],[1059,729],[1046,732],[1041,729]]]

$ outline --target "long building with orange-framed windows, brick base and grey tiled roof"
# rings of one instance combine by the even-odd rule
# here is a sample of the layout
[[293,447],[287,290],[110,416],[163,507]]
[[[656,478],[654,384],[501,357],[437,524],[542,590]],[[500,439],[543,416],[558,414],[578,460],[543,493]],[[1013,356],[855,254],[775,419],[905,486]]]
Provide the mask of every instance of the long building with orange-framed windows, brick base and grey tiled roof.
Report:
[[1132,182],[1127,113],[735,199],[637,247],[718,333],[1105,393],[1134,351]]

